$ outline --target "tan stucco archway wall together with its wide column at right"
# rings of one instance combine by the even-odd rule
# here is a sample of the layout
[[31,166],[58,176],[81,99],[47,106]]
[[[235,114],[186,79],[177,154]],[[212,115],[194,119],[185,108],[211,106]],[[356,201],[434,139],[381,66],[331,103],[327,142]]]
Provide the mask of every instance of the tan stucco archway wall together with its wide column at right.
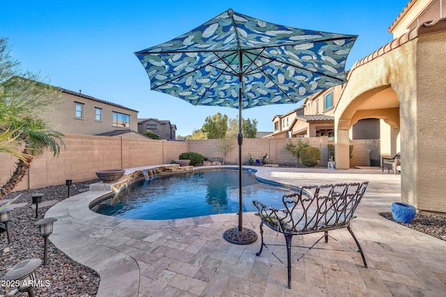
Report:
[[357,109],[391,86],[397,94],[399,130],[390,124],[386,154],[401,149],[401,200],[419,210],[446,212],[446,33],[421,35],[356,67],[335,111],[338,168],[348,168],[346,129]]

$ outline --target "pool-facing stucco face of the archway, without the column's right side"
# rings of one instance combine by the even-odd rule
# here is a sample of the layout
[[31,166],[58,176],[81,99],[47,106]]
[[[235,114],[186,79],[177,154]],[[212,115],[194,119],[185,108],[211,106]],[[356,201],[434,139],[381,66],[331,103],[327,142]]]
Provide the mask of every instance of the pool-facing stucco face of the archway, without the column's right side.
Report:
[[[351,118],[357,109],[389,86],[397,93],[400,101],[401,127],[401,200],[415,203],[417,193],[417,122],[416,122],[416,91],[415,77],[417,39],[407,42],[372,61],[352,70],[349,81],[335,111],[334,126],[335,142],[337,143],[336,159],[338,168],[347,169],[348,146],[343,131],[349,129],[353,123]],[[410,161],[409,161],[410,160]],[[407,165],[406,165],[407,164]]]

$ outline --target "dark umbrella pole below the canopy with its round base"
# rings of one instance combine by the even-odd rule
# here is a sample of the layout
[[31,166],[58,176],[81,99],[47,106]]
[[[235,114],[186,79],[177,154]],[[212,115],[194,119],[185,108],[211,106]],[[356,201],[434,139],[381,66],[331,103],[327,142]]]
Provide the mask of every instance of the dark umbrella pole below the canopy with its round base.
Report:
[[223,237],[226,241],[236,244],[249,244],[257,240],[257,234],[253,230],[243,228],[243,168],[242,168],[242,83],[240,78],[240,88],[238,88],[238,227],[228,229]]

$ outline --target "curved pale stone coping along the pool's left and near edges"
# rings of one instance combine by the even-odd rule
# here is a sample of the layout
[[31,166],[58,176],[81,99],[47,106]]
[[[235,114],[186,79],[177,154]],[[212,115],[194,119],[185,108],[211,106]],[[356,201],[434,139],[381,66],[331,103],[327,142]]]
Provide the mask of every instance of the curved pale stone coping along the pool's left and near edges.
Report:
[[[101,243],[101,238],[107,237],[114,229],[168,229],[187,226],[200,226],[216,222],[224,222],[234,214],[214,214],[194,218],[175,220],[135,220],[116,218],[91,211],[90,205],[113,193],[116,188],[127,186],[140,175],[134,172],[153,168],[176,169],[178,164],[163,164],[161,166],[142,166],[129,168],[121,179],[112,183],[98,182],[89,186],[90,191],[79,193],[59,202],[45,213],[45,218],[57,218],[49,239],[71,259],[93,268],[100,275],[100,285],[97,296],[137,296],[139,291],[139,266],[134,258],[115,250],[113,246]],[[248,166],[249,167],[249,166]],[[166,172],[167,174],[184,171],[201,171],[217,169],[238,169],[238,166],[201,166],[194,168],[186,166],[180,170]],[[257,168],[249,168],[257,171]],[[132,176],[133,175],[133,176]],[[254,214],[245,214],[245,220],[253,218]],[[118,267],[119,273],[116,273]]]

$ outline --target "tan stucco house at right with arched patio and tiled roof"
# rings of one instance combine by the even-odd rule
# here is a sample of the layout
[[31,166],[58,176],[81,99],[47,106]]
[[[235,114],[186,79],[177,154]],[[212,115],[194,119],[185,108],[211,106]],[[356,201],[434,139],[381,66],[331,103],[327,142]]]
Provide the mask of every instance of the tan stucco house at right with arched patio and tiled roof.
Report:
[[401,152],[401,201],[446,213],[446,1],[410,0],[393,40],[357,61],[334,111],[336,166],[349,168],[351,128],[380,120],[380,155]]

